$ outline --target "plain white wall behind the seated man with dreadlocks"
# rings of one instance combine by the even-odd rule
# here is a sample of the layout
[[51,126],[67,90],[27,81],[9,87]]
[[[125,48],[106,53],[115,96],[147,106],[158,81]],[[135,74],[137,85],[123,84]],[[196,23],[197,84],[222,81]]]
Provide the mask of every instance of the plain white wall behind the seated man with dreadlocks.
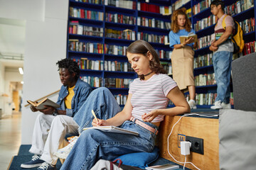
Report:
[[[26,20],[23,105],[60,89],[55,63],[66,57],[68,0],[0,0],[0,17]],[[31,144],[36,115],[22,106],[21,144]]]

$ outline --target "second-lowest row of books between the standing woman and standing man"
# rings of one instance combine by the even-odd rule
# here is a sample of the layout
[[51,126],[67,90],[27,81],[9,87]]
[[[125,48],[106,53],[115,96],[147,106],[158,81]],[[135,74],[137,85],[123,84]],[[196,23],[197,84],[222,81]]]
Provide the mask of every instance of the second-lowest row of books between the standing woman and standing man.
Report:
[[195,76],[195,85],[196,86],[208,86],[216,84],[215,74],[199,74]]

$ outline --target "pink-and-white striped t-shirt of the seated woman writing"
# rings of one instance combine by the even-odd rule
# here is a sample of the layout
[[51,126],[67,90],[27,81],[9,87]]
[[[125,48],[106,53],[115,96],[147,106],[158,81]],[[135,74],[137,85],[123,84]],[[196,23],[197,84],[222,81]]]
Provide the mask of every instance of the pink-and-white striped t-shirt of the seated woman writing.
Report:
[[[134,79],[129,87],[129,94],[132,94],[132,116],[142,120],[144,113],[166,108],[169,102],[169,98],[166,96],[176,86],[176,82],[167,74],[154,74],[148,80]],[[164,115],[158,115],[152,122],[162,120],[164,120]]]

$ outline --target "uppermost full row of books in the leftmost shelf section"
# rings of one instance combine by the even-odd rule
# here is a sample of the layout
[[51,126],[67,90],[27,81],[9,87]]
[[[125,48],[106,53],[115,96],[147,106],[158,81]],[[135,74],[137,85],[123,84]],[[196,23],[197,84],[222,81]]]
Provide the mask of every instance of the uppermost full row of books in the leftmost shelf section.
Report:
[[74,8],[70,6],[70,16],[75,18],[85,18],[103,21],[104,13],[100,11],[90,11],[82,8]]

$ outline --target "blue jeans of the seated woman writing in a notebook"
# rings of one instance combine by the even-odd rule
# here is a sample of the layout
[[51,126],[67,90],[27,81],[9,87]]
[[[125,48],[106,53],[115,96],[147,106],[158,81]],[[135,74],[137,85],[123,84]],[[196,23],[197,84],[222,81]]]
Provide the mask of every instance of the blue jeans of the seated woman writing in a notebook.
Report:
[[[117,107],[118,104],[112,94],[109,93],[106,88],[92,91],[85,102],[90,102],[90,104],[82,107],[85,113],[90,113],[93,108],[99,118],[100,115],[103,115],[105,118],[111,118],[108,116],[116,114],[113,113],[113,108]],[[107,97],[106,94],[112,97]],[[94,97],[91,98],[92,96]],[[110,106],[110,108],[108,106]],[[104,108],[105,112],[102,108]],[[114,111],[116,110],[114,109]],[[100,113],[100,115],[98,113]],[[80,121],[84,122],[83,120]],[[150,125],[152,128],[157,128],[151,123],[146,124]],[[123,154],[151,152],[154,149],[156,135],[153,132],[149,132],[149,130],[129,120],[125,121],[120,128],[139,132],[139,136],[103,132],[95,129],[85,130],[81,133],[73,149],[71,149],[61,169],[90,169],[99,159],[112,160]]]

